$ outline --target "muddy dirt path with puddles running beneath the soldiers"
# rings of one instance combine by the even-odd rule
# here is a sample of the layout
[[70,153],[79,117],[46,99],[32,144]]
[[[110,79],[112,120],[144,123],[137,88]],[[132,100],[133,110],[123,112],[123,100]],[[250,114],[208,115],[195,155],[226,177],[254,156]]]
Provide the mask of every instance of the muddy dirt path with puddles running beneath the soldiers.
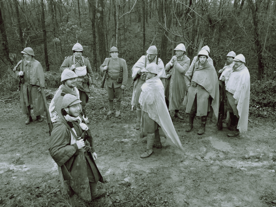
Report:
[[[100,110],[102,119],[91,119],[89,125],[97,164],[107,181],[100,187],[108,188],[108,195],[90,206],[276,206],[275,122],[251,119],[246,136],[229,138],[228,130],[217,131],[210,120],[199,136],[199,119],[194,131],[187,133],[188,123],[173,118],[185,151],[162,138],[163,148],[141,159],[146,140],[134,129],[135,113],[125,109],[116,120]],[[25,125],[25,117],[14,111],[0,108],[0,206],[63,206],[60,197],[51,204],[60,187],[48,153],[46,121]],[[33,195],[32,201],[19,205],[17,199],[24,193]],[[79,201],[84,205],[89,206]]]

